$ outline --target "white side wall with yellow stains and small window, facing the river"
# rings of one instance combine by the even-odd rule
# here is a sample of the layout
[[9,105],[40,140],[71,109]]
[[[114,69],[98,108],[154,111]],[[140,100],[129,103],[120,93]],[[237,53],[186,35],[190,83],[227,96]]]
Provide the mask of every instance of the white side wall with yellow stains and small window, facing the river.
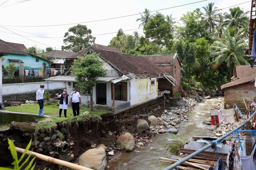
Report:
[[[151,79],[155,85],[151,85]],[[130,79],[131,106],[157,98],[157,78]]]

